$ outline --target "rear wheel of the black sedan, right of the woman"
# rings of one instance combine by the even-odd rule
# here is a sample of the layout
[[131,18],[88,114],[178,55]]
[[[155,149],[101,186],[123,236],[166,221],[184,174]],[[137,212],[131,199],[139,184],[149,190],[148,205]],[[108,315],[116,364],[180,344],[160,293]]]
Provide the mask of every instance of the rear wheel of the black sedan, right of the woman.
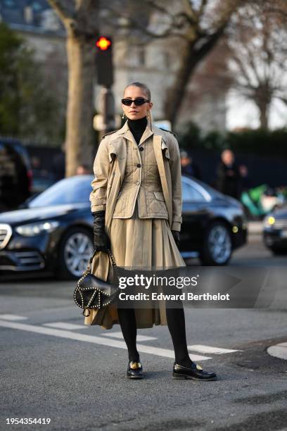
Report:
[[203,265],[226,265],[232,254],[231,235],[229,227],[223,222],[211,223],[204,236],[200,261]]

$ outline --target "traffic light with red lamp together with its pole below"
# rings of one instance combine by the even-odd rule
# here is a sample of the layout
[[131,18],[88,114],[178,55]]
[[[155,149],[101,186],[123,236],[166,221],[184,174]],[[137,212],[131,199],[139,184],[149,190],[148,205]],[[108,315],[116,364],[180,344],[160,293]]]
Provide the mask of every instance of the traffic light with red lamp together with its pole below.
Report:
[[115,99],[113,85],[113,42],[110,37],[98,37],[96,41],[97,82],[101,85],[101,114],[103,127],[100,138],[107,132],[115,130]]

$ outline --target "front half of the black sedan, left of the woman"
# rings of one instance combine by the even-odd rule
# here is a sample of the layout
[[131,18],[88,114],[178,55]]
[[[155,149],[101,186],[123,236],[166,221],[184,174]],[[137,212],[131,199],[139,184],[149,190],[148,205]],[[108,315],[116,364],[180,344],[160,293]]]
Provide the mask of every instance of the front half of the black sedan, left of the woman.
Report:
[[91,175],[66,178],[0,214],[0,270],[48,270],[77,277],[94,251]]

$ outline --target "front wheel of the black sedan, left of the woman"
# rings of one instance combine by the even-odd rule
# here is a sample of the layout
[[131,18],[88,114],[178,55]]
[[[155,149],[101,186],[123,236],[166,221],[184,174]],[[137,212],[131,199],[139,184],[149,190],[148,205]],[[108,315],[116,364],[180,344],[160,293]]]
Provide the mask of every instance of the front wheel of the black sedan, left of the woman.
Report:
[[87,269],[94,253],[93,235],[84,227],[68,230],[60,243],[58,275],[64,280],[77,280]]

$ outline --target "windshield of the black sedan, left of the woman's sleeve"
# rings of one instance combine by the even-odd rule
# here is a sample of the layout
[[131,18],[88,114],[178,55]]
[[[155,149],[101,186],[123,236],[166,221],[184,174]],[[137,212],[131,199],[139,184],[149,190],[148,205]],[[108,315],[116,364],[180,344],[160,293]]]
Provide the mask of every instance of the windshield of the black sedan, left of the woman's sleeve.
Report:
[[29,202],[30,208],[49,205],[90,204],[92,175],[65,178],[46,189]]

